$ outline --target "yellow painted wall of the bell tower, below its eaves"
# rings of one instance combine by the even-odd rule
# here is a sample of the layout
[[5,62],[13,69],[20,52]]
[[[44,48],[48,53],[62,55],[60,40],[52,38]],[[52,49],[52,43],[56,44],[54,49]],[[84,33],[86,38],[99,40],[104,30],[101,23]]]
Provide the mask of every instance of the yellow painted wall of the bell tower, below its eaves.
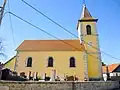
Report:
[[[89,20],[89,19],[88,19]],[[101,60],[100,60],[100,53],[99,53],[99,41],[98,41],[98,34],[96,28],[95,21],[86,21],[80,22],[81,25],[81,34],[83,35],[81,38],[85,41],[85,47],[87,50],[87,57],[88,57],[88,77],[89,78],[102,78],[101,77]],[[92,35],[86,35],[86,26],[91,26],[91,33]],[[88,45],[90,44],[91,45]],[[97,50],[95,48],[97,48]]]

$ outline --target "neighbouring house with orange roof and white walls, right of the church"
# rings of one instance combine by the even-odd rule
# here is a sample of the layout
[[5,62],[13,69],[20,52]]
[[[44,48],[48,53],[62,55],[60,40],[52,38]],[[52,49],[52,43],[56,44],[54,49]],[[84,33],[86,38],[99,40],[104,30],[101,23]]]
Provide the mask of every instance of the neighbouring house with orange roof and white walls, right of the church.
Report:
[[[111,64],[108,66],[102,66],[103,68],[103,77],[110,77],[112,80],[119,79],[120,80],[120,64]],[[107,75],[108,74],[108,75]]]

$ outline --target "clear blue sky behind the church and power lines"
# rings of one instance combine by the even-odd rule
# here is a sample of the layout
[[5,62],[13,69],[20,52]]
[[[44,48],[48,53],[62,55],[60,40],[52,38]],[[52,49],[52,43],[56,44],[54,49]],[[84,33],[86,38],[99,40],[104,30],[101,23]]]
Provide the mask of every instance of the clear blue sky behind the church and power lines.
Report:
[[[78,35],[77,22],[81,15],[83,0],[25,0],[36,9],[52,18],[54,21],[67,28],[70,32]],[[3,0],[0,0],[0,5]],[[76,39],[51,21],[28,7],[22,0],[9,0],[10,11],[28,20],[32,24],[46,30],[60,39]],[[120,63],[120,0],[86,0],[86,6],[93,17],[99,19],[97,30],[99,34],[100,49],[118,59],[113,59],[102,54],[102,61],[106,64]],[[9,11],[8,2],[5,11]],[[16,48],[24,40],[55,39],[40,30],[20,21],[11,15],[12,28],[15,44],[11,30],[10,15],[6,14],[0,26],[0,37],[5,46],[6,62],[16,53]]]

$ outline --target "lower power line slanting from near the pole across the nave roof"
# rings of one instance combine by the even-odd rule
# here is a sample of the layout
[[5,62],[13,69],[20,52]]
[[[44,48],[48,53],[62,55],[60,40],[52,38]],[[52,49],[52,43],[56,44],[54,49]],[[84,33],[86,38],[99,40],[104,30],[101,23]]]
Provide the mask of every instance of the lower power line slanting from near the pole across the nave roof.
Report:
[[[75,46],[73,46],[73,45],[71,45],[71,44],[69,44],[69,43],[65,42],[64,40],[61,40],[61,39],[57,38],[56,36],[54,36],[54,35],[52,35],[52,34],[48,33],[47,31],[45,31],[45,30],[43,30],[43,29],[41,29],[41,28],[37,27],[36,25],[34,25],[34,24],[30,23],[29,21],[26,21],[25,19],[23,19],[23,18],[21,18],[21,17],[17,16],[16,14],[14,14],[14,13],[12,13],[12,12],[9,12],[9,13],[10,13],[11,15],[15,16],[16,18],[18,18],[18,19],[20,19],[20,20],[24,21],[25,23],[27,23],[27,24],[31,25],[32,27],[34,27],[34,28],[36,28],[36,29],[38,29],[38,30],[40,30],[40,31],[42,31],[42,32],[44,32],[44,33],[46,33],[46,34],[48,34],[48,35],[52,36],[53,38],[55,38],[55,39],[57,39],[57,40],[59,40],[59,41],[61,41],[61,42],[65,43],[65,44],[67,44],[67,45],[71,46],[72,48],[74,48],[74,49],[76,49],[76,50],[81,51],[81,49],[76,48]],[[93,58],[98,59],[97,57],[95,57],[95,56],[93,56],[93,55],[90,55],[90,56],[92,56]]]

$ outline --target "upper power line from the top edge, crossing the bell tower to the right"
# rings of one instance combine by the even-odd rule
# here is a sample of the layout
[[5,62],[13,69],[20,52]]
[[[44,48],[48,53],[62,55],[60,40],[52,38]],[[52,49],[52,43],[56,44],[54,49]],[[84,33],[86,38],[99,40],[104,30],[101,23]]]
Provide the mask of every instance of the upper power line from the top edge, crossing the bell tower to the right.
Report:
[[[57,23],[57,22],[54,21],[53,19],[49,18],[47,15],[45,15],[45,14],[42,13],[41,11],[37,10],[35,7],[33,7],[32,5],[30,5],[30,4],[27,3],[26,1],[22,0],[22,2],[24,2],[26,5],[28,5],[29,7],[31,7],[32,9],[34,9],[35,11],[37,11],[38,13],[40,13],[41,15],[43,15],[44,17],[46,17],[48,20],[50,20],[51,22],[53,22],[54,24],[56,24],[57,26],[59,26],[59,27],[62,28],[63,30],[65,30],[65,31],[67,31],[68,33],[70,33],[71,35],[79,38],[78,36],[76,36],[75,34],[73,34],[72,32],[70,32],[68,29],[66,29],[65,27],[63,27],[62,25],[60,25],[59,23]],[[84,43],[86,43],[86,44],[89,45],[89,43],[87,43],[86,41],[84,41]],[[114,56],[112,56],[112,55],[110,55],[110,54],[105,53],[104,51],[99,50],[98,48],[96,48],[96,47],[94,47],[94,46],[92,46],[92,45],[91,45],[91,47],[94,48],[94,49],[96,49],[97,51],[99,51],[99,52],[101,52],[101,53],[103,53],[103,54],[105,54],[105,55],[113,58],[113,59],[120,60],[120,59],[118,59],[118,58],[116,58],[116,57],[114,57]]]

